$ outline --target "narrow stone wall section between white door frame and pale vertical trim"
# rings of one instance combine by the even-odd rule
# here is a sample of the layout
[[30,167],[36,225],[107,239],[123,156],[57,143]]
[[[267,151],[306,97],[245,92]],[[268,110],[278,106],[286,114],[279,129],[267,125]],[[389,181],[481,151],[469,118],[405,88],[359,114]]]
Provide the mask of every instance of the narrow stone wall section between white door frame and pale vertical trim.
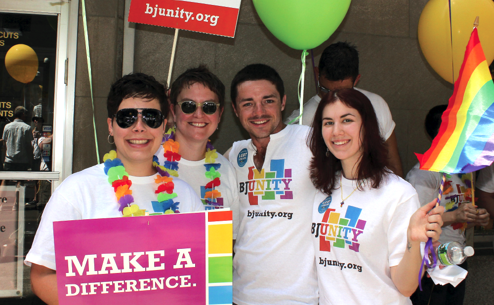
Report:
[[[122,77],[124,0],[86,0],[87,32],[91,56],[95,122],[100,162],[112,149],[107,141],[106,97],[113,82]],[[79,3],[76,92],[74,105],[73,172],[95,165],[96,153],[92,121],[91,95],[87,74],[86,48],[82,27],[82,3]]]

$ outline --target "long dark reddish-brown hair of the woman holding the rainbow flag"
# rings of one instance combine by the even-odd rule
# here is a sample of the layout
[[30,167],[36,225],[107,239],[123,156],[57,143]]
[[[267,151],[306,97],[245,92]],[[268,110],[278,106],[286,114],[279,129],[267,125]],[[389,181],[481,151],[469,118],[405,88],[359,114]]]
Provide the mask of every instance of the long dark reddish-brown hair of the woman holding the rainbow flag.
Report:
[[[307,145],[312,152],[310,177],[314,186],[326,194],[334,189],[336,171],[342,170],[341,161],[333,154],[326,157],[328,147],[322,133],[322,116],[324,108],[336,101],[341,101],[348,107],[356,109],[362,117],[360,131],[362,142],[362,158],[357,169],[357,184],[359,190],[365,186],[379,188],[390,171],[386,169],[388,150],[384,138],[380,136],[379,125],[371,101],[355,89],[331,90],[325,95],[317,107],[312,122],[312,131],[307,138]],[[369,179],[366,182],[366,179]]]

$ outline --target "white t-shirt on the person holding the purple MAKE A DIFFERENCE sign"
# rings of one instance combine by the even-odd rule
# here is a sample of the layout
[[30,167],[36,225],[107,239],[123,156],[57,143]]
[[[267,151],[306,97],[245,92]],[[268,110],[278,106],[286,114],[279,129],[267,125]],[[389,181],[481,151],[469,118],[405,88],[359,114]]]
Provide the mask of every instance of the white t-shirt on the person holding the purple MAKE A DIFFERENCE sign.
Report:
[[[114,188],[108,182],[104,168],[104,164],[99,164],[76,172],[56,188],[44,208],[33,246],[24,261],[26,265],[35,263],[56,270],[54,221],[122,217],[120,204],[117,203]],[[156,174],[128,178],[132,181],[130,190],[134,197],[133,204],[154,213],[151,201],[156,201],[157,196],[157,184],[154,181]],[[173,201],[179,202],[180,212],[204,210],[203,203],[187,183],[178,178],[173,178],[173,183],[173,192],[178,195]]]

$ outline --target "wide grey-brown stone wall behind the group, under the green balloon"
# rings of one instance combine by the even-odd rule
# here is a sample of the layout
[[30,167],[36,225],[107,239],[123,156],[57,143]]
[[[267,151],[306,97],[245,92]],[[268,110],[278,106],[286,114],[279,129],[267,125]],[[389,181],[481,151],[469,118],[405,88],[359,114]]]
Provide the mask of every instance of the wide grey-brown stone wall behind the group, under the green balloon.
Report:
[[[326,46],[348,41],[360,51],[362,74],[358,87],[381,95],[396,122],[398,148],[405,173],[416,163],[413,152],[429,145],[423,121],[433,106],[447,103],[453,86],[427,64],[417,40],[417,24],[427,0],[353,0],[342,25],[328,41],[314,49],[315,63]],[[166,81],[173,29],[136,25],[134,70]],[[268,64],[285,81],[287,109],[298,107],[297,82],[301,51],[293,50],[271,34],[257,16],[251,0],[243,0],[235,38],[180,31],[172,81],[186,68],[206,64],[227,87],[227,104],[219,131],[212,140],[224,152],[233,141],[247,138],[231,109],[230,82],[248,64]],[[310,56],[307,58],[304,95],[315,94]]]

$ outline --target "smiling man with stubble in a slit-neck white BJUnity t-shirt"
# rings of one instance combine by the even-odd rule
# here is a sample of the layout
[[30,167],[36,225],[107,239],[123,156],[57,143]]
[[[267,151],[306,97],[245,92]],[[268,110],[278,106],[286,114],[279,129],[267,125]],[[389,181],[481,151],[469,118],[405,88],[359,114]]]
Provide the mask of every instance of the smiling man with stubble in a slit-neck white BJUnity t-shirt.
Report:
[[307,227],[316,194],[308,170],[310,128],[283,123],[283,80],[266,65],[239,71],[231,98],[251,137],[235,142],[229,153],[240,196],[233,302],[317,305],[314,247]]

